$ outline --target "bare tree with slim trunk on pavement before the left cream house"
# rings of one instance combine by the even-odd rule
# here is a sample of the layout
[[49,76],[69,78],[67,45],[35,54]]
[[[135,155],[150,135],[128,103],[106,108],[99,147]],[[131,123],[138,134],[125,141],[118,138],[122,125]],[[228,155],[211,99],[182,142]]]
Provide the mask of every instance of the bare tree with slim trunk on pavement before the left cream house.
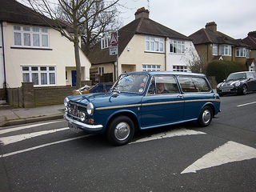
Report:
[[[30,3],[30,6],[36,10],[39,14],[46,17],[50,17],[52,22],[49,22],[45,17],[41,17],[50,27],[54,30],[58,30],[64,37],[70,42],[74,43],[74,57],[76,63],[76,87],[81,86],[81,62],[79,56],[79,38],[87,28],[90,27],[90,22],[98,22],[98,18],[106,13],[112,7],[117,5],[119,0],[26,0]],[[65,20],[70,22],[72,30],[74,32],[73,37],[69,33],[66,33],[63,28],[63,22],[59,19],[60,14],[58,10],[62,10],[63,15],[66,15]],[[64,14],[65,13],[65,14]],[[38,16],[40,17],[40,15]],[[90,21],[90,22],[88,22]],[[103,20],[104,21],[104,20]],[[90,30],[88,30],[90,31]],[[92,30],[91,30],[92,31]],[[90,34],[87,34],[87,37]],[[88,41],[90,42],[90,41]]]

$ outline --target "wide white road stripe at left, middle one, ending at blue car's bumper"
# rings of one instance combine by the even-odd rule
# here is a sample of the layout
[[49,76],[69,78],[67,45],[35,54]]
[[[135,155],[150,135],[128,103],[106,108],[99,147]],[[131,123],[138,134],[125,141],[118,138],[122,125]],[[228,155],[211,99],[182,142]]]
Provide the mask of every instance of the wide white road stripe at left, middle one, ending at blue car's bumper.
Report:
[[14,135],[14,136],[4,137],[4,138],[0,138],[0,144],[2,144],[3,146],[6,146],[10,143],[20,142],[20,141],[26,140],[28,138],[35,138],[35,137],[41,136],[43,134],[52,134],[52,133],[55,133],[58,131],[69,130],[69,129],[70,129],[69,127],[64,127],[61,129],[42,130],[39,132],[30,133],[30,134],[18,134],[18,135]]

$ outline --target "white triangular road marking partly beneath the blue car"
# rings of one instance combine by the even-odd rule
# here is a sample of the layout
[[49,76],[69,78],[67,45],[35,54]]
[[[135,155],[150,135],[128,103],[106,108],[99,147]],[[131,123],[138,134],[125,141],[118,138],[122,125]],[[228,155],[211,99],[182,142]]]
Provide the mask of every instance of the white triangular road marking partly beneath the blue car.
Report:
[[160,134],[153,134],[148,138],[141,138],[135,142],[130,142],[129,144],[137,143],[137,142],[148,142],[151,140],[161,139],[161,138],[172,138],[176,136],[185,136],[185,135],[193,135],[193,134],[206,134],[201,131],[196,130],[187,130],[185,128],[178,129],[178,130],[170,130],[168,132],[160,133]]

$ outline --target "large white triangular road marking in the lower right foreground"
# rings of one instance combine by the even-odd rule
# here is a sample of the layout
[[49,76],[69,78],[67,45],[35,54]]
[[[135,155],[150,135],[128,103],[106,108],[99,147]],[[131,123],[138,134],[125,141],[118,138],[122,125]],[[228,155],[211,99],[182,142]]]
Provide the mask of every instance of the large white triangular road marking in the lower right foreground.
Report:
[[226,142],[209,154],[199,158],[192,165],[188,166],[181,174],[196,173],[197,170],[207,169],[213,166],[221,166],[228,162],[240,162],[256,158],[256,149],[237,142]]

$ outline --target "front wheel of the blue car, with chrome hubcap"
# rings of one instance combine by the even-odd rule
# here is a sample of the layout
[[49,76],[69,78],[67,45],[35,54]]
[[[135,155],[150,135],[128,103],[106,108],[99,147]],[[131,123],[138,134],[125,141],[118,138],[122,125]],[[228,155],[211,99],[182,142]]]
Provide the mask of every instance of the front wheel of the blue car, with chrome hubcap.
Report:
[[134,122],[126,116],[114,118],[106,130],[106,138],[114,146],[126,145],[133,137]]

